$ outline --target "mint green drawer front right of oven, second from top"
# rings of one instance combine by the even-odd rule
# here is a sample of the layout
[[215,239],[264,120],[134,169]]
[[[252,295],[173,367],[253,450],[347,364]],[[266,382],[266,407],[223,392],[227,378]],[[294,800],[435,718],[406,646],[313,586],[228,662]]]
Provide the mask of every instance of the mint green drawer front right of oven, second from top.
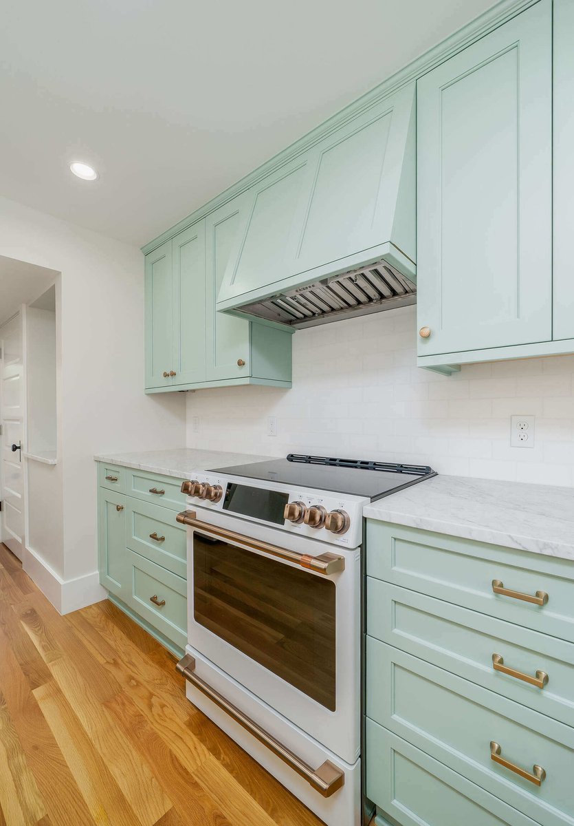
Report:
[[367,589],[371,637],[574,726],[574,644],[372,577]]

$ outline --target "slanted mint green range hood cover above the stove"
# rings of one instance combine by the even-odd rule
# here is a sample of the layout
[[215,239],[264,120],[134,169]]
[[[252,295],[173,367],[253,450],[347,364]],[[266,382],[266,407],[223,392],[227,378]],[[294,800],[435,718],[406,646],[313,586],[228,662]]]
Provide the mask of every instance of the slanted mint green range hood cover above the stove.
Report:
[[255,183],[218,309],[382,258],[414,278],[415,137],[411,83]]

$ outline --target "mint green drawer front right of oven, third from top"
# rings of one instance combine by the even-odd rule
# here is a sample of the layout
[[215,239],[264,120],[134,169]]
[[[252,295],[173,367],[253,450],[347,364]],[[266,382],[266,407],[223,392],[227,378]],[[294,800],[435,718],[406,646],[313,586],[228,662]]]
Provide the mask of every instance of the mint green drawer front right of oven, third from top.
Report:
[[[542,826],[572,826],[574,729],[367,638],[367,715]],[[546,777],[536,786],[501,759]]]

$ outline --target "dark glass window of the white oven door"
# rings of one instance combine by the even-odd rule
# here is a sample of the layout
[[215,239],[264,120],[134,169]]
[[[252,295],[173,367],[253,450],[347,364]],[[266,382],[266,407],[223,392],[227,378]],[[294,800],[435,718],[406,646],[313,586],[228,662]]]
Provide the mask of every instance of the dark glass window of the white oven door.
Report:
[[195,622],[335,710],[330,580],[194,532]]

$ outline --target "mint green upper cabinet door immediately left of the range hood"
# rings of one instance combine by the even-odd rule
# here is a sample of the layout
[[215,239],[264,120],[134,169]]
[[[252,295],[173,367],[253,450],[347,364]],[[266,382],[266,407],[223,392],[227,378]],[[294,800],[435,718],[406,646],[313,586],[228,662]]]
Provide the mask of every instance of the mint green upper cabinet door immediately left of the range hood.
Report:
[[[237,249],[238,233],[245,219],[244,196],[212,212],[205,219],[205,323],[207,378],[249,376],[251,343],[249,321],[215,310],[215,302],[228,260]],[[244,361],[245,364],[238,364]]]

